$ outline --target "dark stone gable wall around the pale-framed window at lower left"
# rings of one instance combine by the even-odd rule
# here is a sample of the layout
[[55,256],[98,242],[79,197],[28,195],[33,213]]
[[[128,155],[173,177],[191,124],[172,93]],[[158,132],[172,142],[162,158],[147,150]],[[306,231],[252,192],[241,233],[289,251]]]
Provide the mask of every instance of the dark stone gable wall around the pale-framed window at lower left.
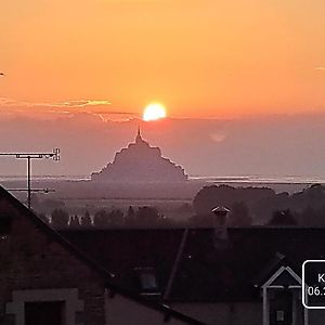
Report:
[[12,220],[9,233],[0,236],[0,323],[18,324],[15,302],[23,298],[17,297],[35,301],[44,300],[47,292],[75,291],[75,321],[104,324],[104,278],[3,199],[0,211]]

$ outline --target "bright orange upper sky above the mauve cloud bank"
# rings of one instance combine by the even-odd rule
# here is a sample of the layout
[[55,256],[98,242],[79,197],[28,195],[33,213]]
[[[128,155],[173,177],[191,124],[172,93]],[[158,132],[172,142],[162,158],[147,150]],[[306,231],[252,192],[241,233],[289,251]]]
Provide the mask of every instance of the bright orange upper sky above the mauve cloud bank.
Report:
[[324,16],[324,0],[1,0],[0,98],[325,112]]

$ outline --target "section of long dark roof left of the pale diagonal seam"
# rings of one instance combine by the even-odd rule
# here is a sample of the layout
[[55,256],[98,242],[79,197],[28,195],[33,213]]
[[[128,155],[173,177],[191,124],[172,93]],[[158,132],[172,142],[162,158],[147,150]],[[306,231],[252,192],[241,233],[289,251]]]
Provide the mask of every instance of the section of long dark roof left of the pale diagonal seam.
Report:
[[61,234],[115,274],[123,288],[138,291],[135,268],[153,268],[158,284],[167,284],[184,230],[61,231]]

